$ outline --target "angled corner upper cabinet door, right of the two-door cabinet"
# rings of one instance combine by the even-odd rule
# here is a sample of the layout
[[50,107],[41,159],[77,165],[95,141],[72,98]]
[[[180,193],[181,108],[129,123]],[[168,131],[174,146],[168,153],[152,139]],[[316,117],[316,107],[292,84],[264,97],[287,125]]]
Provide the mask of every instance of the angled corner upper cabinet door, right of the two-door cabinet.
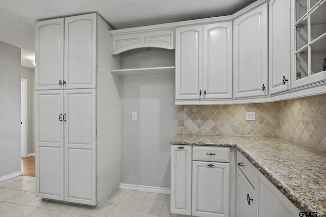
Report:
[[267,4],[241,15],[233,24],[234,97],[265,96],[267,95]]

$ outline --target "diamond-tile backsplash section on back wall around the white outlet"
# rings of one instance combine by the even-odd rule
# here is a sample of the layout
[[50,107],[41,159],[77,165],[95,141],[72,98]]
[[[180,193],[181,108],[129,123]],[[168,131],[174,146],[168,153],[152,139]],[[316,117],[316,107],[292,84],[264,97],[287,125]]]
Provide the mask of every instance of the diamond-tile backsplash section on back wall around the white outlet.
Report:
[[[246,120],[256,112],[256,121]],[[178,106],[178,134],[277,136],[277,103]]]

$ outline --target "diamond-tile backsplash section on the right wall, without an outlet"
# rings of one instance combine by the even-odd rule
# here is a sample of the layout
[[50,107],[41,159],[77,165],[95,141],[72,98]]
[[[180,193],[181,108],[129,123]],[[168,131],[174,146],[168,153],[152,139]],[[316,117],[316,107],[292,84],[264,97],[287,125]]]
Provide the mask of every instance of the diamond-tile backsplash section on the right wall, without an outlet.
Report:
[[278,137],[326,150],[326,95],[281,101]]

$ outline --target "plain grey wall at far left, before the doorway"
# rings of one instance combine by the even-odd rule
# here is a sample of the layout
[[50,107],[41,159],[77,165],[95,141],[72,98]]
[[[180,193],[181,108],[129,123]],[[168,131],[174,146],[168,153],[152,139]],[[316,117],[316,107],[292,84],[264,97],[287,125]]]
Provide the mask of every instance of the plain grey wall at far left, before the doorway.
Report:
[[20,48],[0,42],[0,179],[21,171]]

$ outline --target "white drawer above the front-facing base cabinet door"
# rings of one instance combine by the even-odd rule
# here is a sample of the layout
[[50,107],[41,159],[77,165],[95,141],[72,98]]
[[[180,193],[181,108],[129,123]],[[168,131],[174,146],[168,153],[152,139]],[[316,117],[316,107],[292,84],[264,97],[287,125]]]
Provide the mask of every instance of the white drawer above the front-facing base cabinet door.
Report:
[[230,162],[230,147],[193,146],[193,160]]

